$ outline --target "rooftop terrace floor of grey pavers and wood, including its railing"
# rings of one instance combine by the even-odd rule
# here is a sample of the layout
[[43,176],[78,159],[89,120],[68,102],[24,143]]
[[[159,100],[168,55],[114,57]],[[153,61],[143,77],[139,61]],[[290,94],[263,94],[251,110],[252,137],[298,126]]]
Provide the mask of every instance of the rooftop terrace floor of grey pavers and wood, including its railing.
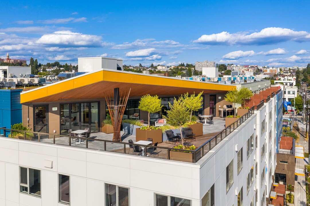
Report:
[[[144,149],[143,153],[134,153],[136,155],[142,155],[146,157],[156,157],[162,159],[170,159],[170,160],[179,160],[173,159],[171,157],[171,152],[173,151],[186,151],[189,154],[188,162],[197,162],[201,157],[203,157],[206,153],[208,153],[215,145],[217,145],[222,139],[226,138],[232,131],[237,129],[244,121],[246,121],[252,114],[254,114],[253,110],[250,110],[248,113],[244,114],[241,118],[239,118],[236,122],[231,125],[226,125],[225,128],[225,119],[224,118],[214,118],[214,125],[203,125],[203,135],[197,136],[196,141],[192,139],[187,139],[184,141],[184,145],[195,145],[195,150],[183,150],[183,149],[175,149],[173,148],[176,144],[174,142],[162,142],[156,146],[153,145],[141,145],[135,144],[135,136],[129,135],[124,132],[121,132],[122,142],[112,141],[113,134],[105,134],[105,133],[93,133],[90,138],[80,138],[81,144],[79,144],[79,138],[70,137],[67,135],[56,135],[56,134],[46,134],[46,133],[38,133],[33,131],[18,131],[11,130],[6,128],[0,128],[0,136],[8,136],[12,131],[17,131],[22,134],[21,139],[26,139],[26,133],[33,133],[34,137],[32,137],[31,141],[38,141],[42,143],[48,144],[59,144],[66,146],[73,146],[79,148],[87,148],[94,150],[103,150],[109,152],[118,152],[118,153],[126,153],[133,154],[132,145],[138,145],[142,149]],[[128,143],[129,140],[132,140],[134,143]],[[153,150],[153,151],[152,151]],[[178,152],[179,154],[182,152]],[[184,153],[182,153],[184,154]]]

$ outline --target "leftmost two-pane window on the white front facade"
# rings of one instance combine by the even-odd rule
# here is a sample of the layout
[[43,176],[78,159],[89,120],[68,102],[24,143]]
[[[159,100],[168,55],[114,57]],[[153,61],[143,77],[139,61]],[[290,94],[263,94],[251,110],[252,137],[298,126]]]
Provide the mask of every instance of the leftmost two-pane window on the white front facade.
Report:
[[41,196],[41,171],[20,167],[20,192]]

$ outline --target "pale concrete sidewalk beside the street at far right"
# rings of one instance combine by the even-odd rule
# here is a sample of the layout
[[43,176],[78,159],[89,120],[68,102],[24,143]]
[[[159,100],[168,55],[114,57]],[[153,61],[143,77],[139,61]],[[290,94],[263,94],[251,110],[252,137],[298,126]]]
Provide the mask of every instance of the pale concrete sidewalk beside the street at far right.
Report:
[[[304,131],[304,124],[302,122],[299,122],[299,128],[300,128],[300,132],[303,133]],[[304,138],[301,136],[299,139],[299,143],[296,143],[295,145],[299,145],[299,146],[303,146],[304,151],[308,152],[308,142],[304,141]],[[308,161],[308,160],[307,160]],[[297,169],[303,169],[305,168],[304,165],[308,164],[308,162],[306,162],[305,159],[300,159],[300,158],[296,158],[295,161],[295,168]],[[307,195],[306,195],[306,181],[305,181],[305,176],[300,176],[300,175],[296,175],[297,176],[297,181],[295,178],[295,187],[294,187],[294,193],[295,193],[295,197],[294,197],[294,202],[295,205],[297,206],[306,206],[307,205]]]

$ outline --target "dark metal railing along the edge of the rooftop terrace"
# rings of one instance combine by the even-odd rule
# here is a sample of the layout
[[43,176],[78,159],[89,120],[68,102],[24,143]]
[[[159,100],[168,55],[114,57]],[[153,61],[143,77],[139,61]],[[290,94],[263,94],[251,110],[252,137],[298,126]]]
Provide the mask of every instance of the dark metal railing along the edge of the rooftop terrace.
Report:
[[[123,154],[130,154],[131,146],[138,145],[141,148],[144,149],[144,156],[145,157],[155,157],[155,158],[161,158],[161,159],[168,159],[170,160],[170,153],[171,151],[179,151],[179,152],[188,152],[192,154],[192,162],[196,163],[201,157],[205,156],[212,148],[215,147],[215,145],[219,144],[220,141],[222,141],[224,138],[226,138],[232,131],[237,129],[243,122],[245,122],[250,116],[254,114],[254,107],[250,108],[249,111],[241,116],[239,119],[237,119],[236,122],[233,122],[232,124],[228,125],[225,129],[220,131],[217,135],[213,136],[211,139],[209,139],[206,143],[201,145],[200,147],[196,148],[195,150],[185,150],[185,149],[176,149],[176,148],[167,148],[167,147],[160,147],[160,146],[152,146],[152,145],[142,145],[142,144],[131,144],[127,142],[115,142],[110,140],[104,140],[104,139],[93,139],[93,138],[85,138],[85,137],[78,137],[78,136],[69,136],[69,135],[56,135],[56,134],[47,134],[47,133],[41,133],[41,132],[34,132],[34,131],[21,131],[21,130],[14,130],[14,129],[7,129],[5,127],[0,128],[0,134],[3,134],[4,137],[8,137],[9,134],[12,132],[18,132],[20,133],[19,139],[29,140],[29,141],[36,141],[36,142],[44,142],[44,143],[51,143],[51,144],[59,144],[59,145],[68,145],[68,146],[76,146],[73,145],[74,142],[72,142],[72,138],[81,139],[81,141],[84,141],[85,144],[82,144],[82,146],[85,145],[85,147],[79,146],[79,148],[87,148],[87,149],[95,149],[95,150],[102,150],[102,151],[109,151],[109,152],[118,152]],[[27,133],[31,133],[33,137],[27,138]],[[29,135],[28,135],[29,136]],[[68,138],[68,144],[64,143],[64,141],[60,140],[60,137]],[[50,140],[51,139],[51,140]],[[94,146],[93,142],[100,142],[101,148],[98,147],[98,145]],[[114,148],[114,149],[108,149],[107,145],[110,144],[121,144],[122,147]],[[128,149],[129,148],[129,149]],[[147,156],[148,149],[153,148],[154,150],[157,149],[160,150],[160,152],[165,152],[164,155],[158,155],[158,156]],[[160,153],[157,152],[157,153]]]

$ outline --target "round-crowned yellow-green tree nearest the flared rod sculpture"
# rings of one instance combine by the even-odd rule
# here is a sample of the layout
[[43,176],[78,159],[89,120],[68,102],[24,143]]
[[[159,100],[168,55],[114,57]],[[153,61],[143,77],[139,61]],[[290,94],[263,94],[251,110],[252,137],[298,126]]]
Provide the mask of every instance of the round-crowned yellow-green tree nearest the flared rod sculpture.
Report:
[[150,126],[150,113],[158,112],[162,109],[162,100],[155,96],[144,95],[139,101],[139,109],[148,112],[148,127]]

